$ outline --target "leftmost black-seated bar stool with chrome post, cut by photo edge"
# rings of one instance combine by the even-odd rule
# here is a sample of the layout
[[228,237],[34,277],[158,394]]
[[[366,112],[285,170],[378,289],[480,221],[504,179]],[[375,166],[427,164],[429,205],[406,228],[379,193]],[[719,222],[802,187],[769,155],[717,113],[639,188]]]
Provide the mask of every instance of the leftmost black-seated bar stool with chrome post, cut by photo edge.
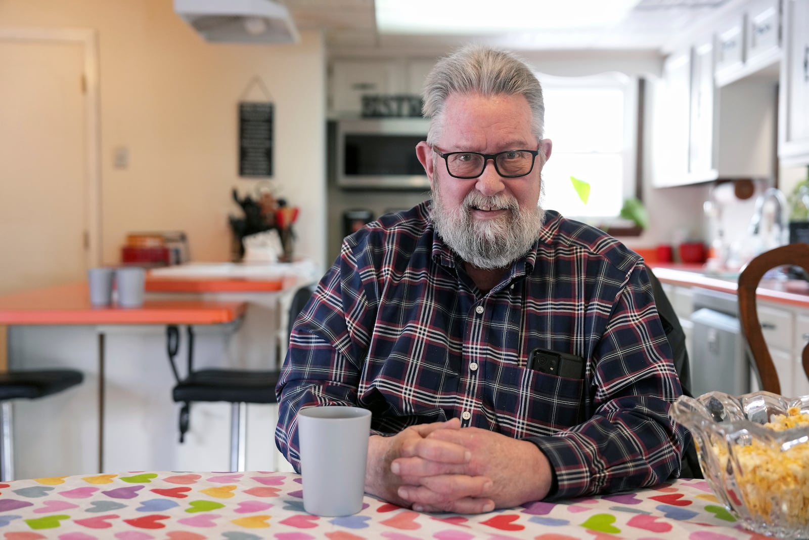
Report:
[[74,369],[45,369],[0,373],[0,481],[14,478],[12,399],[39,399],[81,384],[82,372]]

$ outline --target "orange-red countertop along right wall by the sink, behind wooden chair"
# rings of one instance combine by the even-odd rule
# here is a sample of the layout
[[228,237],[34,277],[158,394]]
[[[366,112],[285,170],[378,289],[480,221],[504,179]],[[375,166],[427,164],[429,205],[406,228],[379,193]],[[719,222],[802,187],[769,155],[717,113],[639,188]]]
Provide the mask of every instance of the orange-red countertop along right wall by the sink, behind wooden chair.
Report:
[[[738,277],[734,274],[710,274],[700,265],[650,264],[654,275],[663,283],[681,287],[705,287],[714,291],[736,294]],[[760,300],[809,308],[809,283],[803,280],[778,281],[762,279],[756,289]]]

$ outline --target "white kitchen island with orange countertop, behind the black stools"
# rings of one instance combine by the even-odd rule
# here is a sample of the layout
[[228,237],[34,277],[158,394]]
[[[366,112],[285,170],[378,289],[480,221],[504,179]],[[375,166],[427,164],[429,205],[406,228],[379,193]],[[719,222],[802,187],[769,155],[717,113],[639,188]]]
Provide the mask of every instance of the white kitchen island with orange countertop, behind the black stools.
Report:
[[[286,350],[285,299],[307,279],[311,274],[150,276],[146,303],[136,309],[91,307],[86,283],[0,297],[11,369],[85,374],[83,385],[67,392],[14,402],[15,476],[227,470],[229,403],[194,403],[179,443],[167,325],[193,325],[195,368],[273,369]],[[181,339],[180,376],[186,355]],[[248,406],[253,470],[291,470],[275,449],[276,414],[272,405]]]

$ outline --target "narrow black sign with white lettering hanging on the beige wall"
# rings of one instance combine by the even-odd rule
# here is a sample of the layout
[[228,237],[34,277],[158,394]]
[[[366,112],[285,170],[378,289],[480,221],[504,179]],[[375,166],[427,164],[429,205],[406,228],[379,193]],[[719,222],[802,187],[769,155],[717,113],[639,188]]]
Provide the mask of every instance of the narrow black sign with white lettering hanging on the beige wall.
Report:
[[239,102],[239,176],[273,176],[273,104]]

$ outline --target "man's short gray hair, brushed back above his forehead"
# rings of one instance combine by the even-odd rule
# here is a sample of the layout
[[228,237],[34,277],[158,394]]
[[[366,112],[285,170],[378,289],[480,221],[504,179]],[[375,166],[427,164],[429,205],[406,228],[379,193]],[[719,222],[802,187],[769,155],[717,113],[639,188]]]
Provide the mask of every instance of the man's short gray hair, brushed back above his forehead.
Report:
[[533,134],[542,139],[545,105],[542,87],[531,68],[513,53],[485,45],[467,45],[438,61],[427,75],[421,112],[430,118],[427,142],[435,144],[451,94],[525,96],[531,108]]

